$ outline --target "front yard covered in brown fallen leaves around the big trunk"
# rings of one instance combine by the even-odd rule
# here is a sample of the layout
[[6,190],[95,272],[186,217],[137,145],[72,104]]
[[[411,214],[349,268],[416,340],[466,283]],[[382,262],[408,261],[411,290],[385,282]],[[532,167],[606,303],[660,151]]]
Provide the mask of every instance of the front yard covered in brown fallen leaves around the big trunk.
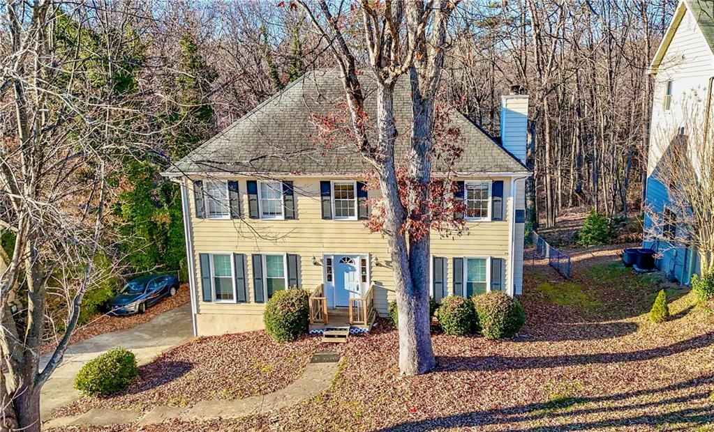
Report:
[[[311,401],[239,421],[174,421],[151,430],[714,431],[714,314],[694,307],[692,294],[616,261],[613,251],[582,252],[568,282],[545,262],[529,261],[522,334],[508,341],[434,334],[438,368],[430,374],[398,376],[397,333],[380,321],[369,336],[353,336],[348,344],[320,346],[306,338],[288,345],[300,359],[325,348],[346,358],[331,389]],[[661,288],[675,298],[673,317],[651,324],[646,313]],[[226,336],[230,342],[221,349],[230,354],[221,361],[266,355],[274,347],[261,343],[262,335]],[[303,366],[288,363],[295,374]],[[234,372],[236,389],[253,380]],[[285,376],[276,382],[286,385]],[[191,385],[180,380],[181,387]],[[171,383],[161,386],[181,393]],[[102,403],[116,404],[112,398]]]

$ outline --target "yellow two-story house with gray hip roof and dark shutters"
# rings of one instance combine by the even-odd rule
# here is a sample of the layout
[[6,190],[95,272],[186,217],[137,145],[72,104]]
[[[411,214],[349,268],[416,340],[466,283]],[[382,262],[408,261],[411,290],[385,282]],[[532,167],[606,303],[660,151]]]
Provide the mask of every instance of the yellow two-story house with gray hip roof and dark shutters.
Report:
[[[394,105],[408,120],[407,79]],[[373,109],[373,82],[361,81]],[[307,73],[164,173],[181,185],[196,334],[263,328],[266,300],[293,285],[313,294],[313,323],[368,326],[373,312],[388,314],[387,241],[365,226],[367,199],[378,196],[363,190],[369,167],[353,142],[326,148],[317,138],[315,115],[344,113],[341,100],[336,71]],[[501,141],[450,113],[464,150],[453,180],[468,210],[463,235],[431,237],[437,300],[521,294],[527,113],[528,96],[503,96]],[[398,157],[407,148],[398,138]]]

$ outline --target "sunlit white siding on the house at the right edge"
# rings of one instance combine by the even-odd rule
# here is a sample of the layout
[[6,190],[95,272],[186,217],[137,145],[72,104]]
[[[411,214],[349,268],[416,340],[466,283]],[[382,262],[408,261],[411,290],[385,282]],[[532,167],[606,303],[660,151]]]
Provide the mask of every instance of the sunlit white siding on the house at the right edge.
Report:
[[[648,175],[652,175],[680,127],[701,124],[712,76],[714,54],[694,16],[686,10],[654,79]],[[664,110],[666,86],[670,80],[673,84],[671,108]]]

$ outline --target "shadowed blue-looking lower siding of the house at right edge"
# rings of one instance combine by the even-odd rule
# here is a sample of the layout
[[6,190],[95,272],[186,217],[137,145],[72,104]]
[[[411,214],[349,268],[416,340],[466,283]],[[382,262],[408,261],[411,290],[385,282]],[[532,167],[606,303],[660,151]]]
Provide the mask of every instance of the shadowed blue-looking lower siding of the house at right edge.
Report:
[[[653,212],[661,214],[669,202],[667,188],[659,180],[650,175],[647,179],[647,196],[645,205]],[[645,232],[653,227],[653,222],[645,212]],[[661,233],[661,228],[658,228]],[[692,274],[698,274],[699,259],[693,250],[681,245],[672,245],[667,240],[643,242],[643,247],[650,247],[659,252],[662,257],[655,261],[657,268],[665,274],[673,274],[683,284],[689,284]],[[692,261],[694,259],[694,262]]]

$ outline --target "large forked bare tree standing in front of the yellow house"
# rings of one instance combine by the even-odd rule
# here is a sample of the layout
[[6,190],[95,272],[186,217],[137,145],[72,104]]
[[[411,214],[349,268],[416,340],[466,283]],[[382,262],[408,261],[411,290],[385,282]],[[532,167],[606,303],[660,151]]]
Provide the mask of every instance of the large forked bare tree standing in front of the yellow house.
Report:
[[[381,191],[381,231],[388,238],[399,314],[399,367],[402,374],[423,374],[436,364],[428,313],[428,254],[431,213],[426,202],[431,182],[436,91],[448,36],[448,20],[457,1],[361,1],[364,41],[358,48],[345,36],[346,20],[356,14],[318,1],[313,9],[299,1],[318,33],[327,38],[342,73],[358,151],[376,173]],[[345,15],[351,16],[345,16]],[[358,58],[366,58],[376,76],[376,137],[368,133]],[[394,88],[408,73],[412,91],[411,146],[404,199],[400,191],[395,142]]]

